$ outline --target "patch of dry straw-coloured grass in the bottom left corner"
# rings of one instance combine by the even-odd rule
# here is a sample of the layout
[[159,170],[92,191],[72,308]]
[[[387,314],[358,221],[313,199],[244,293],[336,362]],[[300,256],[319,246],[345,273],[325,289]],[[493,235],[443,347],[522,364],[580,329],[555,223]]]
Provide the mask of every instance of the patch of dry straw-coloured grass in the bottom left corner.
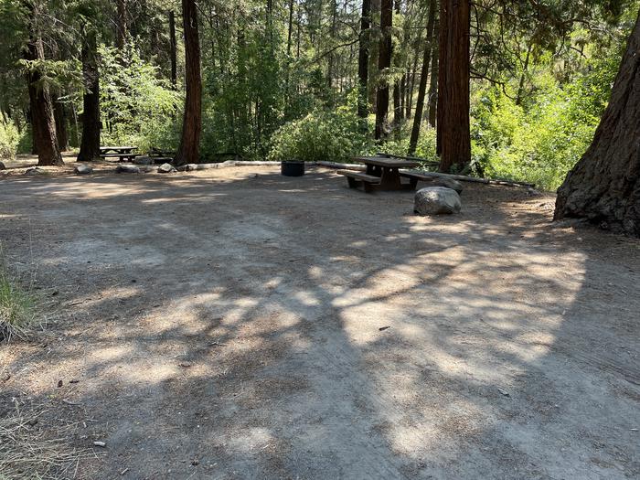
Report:
[[56,438],[48,438],[40,420],[48,409],[13,401],[13,409],[0,418],[0,480],[74,478],[80,460],[95,455],[67,440],[75,425],[64,424],[55,429]]

